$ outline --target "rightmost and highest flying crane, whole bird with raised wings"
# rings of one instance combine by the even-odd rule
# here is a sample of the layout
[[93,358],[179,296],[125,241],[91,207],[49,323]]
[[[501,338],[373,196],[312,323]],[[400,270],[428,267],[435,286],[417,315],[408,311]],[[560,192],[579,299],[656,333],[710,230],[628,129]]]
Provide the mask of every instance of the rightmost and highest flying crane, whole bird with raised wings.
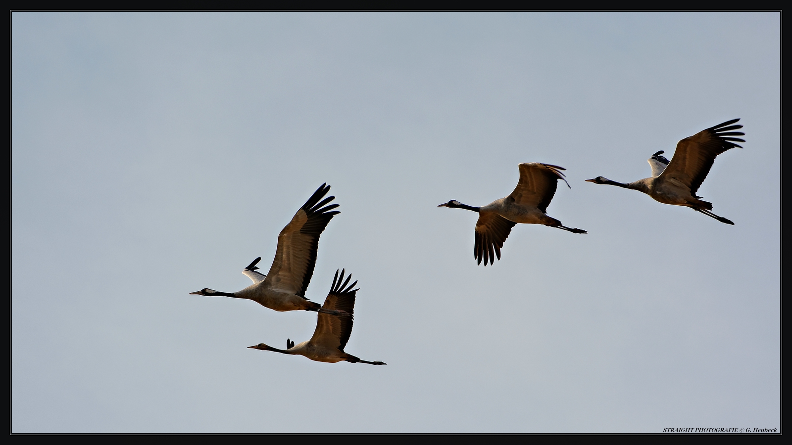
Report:
[[720,222],[734,225],[729,219],[712,213],[712,203],[701,200],[701,196],[696,196],[701,183],[710,173],[715,157],[722,154],[725,150],[735,146],[742,148],[735,142],[744,143],[744,139],[733,136],[745,135],[742,131],[731,131],[742,128],[742,125],[732,125],[739,119],[728,120],[723,124],[706,128],[695,135],[682,139],[676,144],[676,151],[668,159],[661,156],[663,150],[658,151],[649,158],[649,165],[652,167],[652,177],[647,177],[634,182],[623,184],[611,181],[607,177],[595,177],[587,179],[587,182],[594,184],[609,184],[623,188],[631,188],[644,192],[656,201],[672,204],[676,206],[691,207],[695,211],[700,211],[710,218],[718,219]]

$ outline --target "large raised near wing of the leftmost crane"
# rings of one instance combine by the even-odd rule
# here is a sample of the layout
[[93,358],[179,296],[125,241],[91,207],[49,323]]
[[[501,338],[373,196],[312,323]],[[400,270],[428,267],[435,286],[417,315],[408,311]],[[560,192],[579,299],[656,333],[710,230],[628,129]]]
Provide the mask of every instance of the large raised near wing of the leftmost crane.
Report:
[[322,200],[329,189],[329,185],[322,184],[295,213],[284,230],[280,230],[275,260],[272,261],[272,267],[265,278],[265,283],[272,289],[305,298],[310,277],[314,274],[319,235],[330,219],[333,219],[333,215],[341,213],[331,211],[338,204],[322,207],[335,199],[335,196],[330,196]]

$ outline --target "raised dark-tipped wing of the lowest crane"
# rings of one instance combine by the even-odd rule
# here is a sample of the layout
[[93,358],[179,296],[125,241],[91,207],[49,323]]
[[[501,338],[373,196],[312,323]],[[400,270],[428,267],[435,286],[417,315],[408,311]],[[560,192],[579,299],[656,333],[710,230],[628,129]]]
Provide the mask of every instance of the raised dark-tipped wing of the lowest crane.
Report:
[[[338,348],[343,352],[349,334],[352,333],[352,314],[355,311],[355,295],[357,289],[352,289],[357,284],[355,281],[349,284],[352,280],[352,274],[349,274],[346,281],[344,281],[344,270],[341,270],[341,276],[333,278],[333,286],[330,287],[330,292],[325,299],[325,304],[322,309],[327,310],[343,310],[349,316],[332,315],[325,313],[317,314],[316,330],[314,336],[310,337],[310,343],[321,344],[326,348]],[[341,284],[341,282],[344,282]]]

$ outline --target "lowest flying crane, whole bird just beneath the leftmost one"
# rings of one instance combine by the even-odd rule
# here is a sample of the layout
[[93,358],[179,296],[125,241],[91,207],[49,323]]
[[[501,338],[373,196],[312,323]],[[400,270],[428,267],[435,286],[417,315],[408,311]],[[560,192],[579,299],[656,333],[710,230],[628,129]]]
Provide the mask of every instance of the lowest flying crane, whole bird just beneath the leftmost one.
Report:
[[[355,281],[349,284],[352,280],[350,274],[344,280],[344,270],[341,270],[341,276],[336,271],[336,276],[333,277],[333,285],[330,286],[330,292],[325,299],[323,308],[328,310],[341,310],[350,317],[337,316],[319,312],[317,314],[316,330],[314,336],[310,340],[303,341],[303,343],[295,344],[291,339],[286,339],[286,349],[272,348],[263,343],[255,346],[249,346],[251,349],[258,349],[259,351],[273,351],[280,352],[281,354],[289,354],[291,356],[305,356],[317,362],[325,363],[338,363],[347,361],[350,363],[368,363],[371,365],[384,365],[383,362],[368,362],[361,360],[352,354],[344,352],[344,347],[349,340],[349,334],[352,333],[352,317],[355,309],[355,295],[358,289],[352,289],[357,284]],[[343,281],[343,284],[341,283]]]

